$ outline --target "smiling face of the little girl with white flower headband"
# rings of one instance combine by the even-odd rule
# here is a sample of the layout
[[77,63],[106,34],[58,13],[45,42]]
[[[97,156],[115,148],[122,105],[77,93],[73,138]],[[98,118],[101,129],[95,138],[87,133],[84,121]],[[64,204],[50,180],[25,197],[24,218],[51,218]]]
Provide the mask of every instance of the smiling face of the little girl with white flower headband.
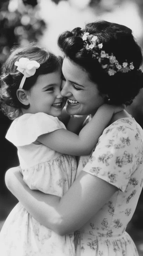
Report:
[[44,112],[52,116],[60,116],[66,103],[61,96],[61,72],[40,75],[36,83],[28,92],[30,108],[35,114]]

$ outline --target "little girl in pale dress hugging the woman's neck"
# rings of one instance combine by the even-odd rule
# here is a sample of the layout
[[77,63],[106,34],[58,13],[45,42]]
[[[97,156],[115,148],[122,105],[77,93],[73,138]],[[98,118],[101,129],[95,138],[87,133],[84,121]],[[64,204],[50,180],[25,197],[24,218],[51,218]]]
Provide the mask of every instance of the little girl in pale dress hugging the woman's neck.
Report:
[[[61,58],[33,44],[12,51],[0,89],[2,109],[15,119],[6,138],[18,148],[25,183],[58,197],[75,179],[72,155],[91,153],[115,111],[112,106],[101,106],[76,135],[57,118],[65,105],[60,90]],[[78,102],[71,100],[70,104],[78,107]],[[68,129],[76,130],[79,124],[76,117],[71,118]],[[47,229],[18,203],[2,228],[0,246],[3,256],[74,256],[73,239],[73,233],[60,236]]]

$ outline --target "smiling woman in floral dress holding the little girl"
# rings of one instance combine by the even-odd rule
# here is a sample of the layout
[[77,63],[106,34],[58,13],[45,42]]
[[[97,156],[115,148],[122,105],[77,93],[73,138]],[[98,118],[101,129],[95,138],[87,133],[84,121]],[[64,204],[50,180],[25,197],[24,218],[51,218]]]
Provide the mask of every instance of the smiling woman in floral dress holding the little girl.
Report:
[[[104,102],[129,105],[142,88],[142,54],[131,29],[89,23],[63,33],[58,44],[65,56],[61,94],[70,115],[92,116]],[[78,230],[77,256],[136,256],[125,229],[143,186],[142,137],[123,110],[113,115],[91,157],[80,158],[76,180],[62,198],[30,190],[19,168],[6,173],[6,185],[44,226],[61,235]]]

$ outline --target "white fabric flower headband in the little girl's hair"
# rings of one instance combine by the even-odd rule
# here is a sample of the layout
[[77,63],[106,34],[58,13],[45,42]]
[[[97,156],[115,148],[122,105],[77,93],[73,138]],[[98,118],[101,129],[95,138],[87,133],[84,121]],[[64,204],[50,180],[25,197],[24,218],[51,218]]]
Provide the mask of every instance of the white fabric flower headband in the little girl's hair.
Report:
[[35,60],[20,58],[19,61],[15,62],[15,66],[17,66],[17,70],[24,75],[19,86],[19,88],[22,88],[25,79],[27,77],[33,76],[36,72],[36,69],[40,67],[40,64]]

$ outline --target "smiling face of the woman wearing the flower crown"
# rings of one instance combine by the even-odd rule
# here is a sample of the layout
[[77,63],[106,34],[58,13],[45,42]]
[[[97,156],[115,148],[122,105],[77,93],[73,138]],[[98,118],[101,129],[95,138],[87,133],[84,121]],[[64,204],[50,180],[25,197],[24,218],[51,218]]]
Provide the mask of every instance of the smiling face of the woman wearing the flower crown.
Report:
[[67,112],[70,115],[94,115],[105,97],[99,93],[97,84],[91,82],[88,73],[69,58],[64,58],[62,72],[65,82],[61,95],[68,98]]

